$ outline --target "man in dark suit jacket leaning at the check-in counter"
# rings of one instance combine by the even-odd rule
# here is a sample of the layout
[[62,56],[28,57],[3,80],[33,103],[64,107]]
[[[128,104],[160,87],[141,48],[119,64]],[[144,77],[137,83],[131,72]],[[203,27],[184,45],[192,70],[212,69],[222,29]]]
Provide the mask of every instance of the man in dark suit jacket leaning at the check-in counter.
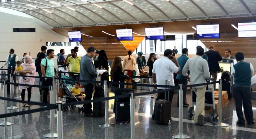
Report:
[[[214,45],[210,45],[209,51],[205,52],[205,54],[208,56],[210,75],[214,78],[214,81],[216,81],[218,71],[220,71],[218,61],[222,60],[222,57],[218,51],[214,50]],[[215,86],[216,84],[214,85],[214,89]]]

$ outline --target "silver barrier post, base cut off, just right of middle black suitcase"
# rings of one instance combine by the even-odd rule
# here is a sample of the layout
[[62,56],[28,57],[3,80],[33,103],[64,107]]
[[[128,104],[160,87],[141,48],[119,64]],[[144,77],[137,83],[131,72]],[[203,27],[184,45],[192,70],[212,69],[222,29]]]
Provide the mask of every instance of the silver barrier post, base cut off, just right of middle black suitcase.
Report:
[[134,119],[135,119],[135,112],[134,112],[134,109],[135,109],[135,106],[134,106],[134,92],[130,92],[130,115],[131,115],[131,139],[135,139],[135,122],[134,122]]

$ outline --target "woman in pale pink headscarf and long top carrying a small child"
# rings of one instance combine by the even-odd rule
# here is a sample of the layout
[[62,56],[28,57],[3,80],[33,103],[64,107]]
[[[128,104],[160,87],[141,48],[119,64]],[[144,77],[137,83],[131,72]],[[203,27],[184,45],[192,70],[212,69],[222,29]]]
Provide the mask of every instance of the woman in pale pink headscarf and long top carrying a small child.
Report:
[[[19,73],[21,75],[27,75],[27,76],[36,76],[36,66],[33,63],[33,59],[30,56],[25,57],[25,63],[21,64],[23,71],[20,71]],[[22,77],[19,78],[19,83],[21,84],[28,84],[28,85],[34,85],[35,78],[31,77]],[[31,93],[32,93],[32,87],[28,86],[19,86],[19,90],[21,90],[21,100],[25,100],[25,91],[28,90],[28,101],[30,101]],[[22,104],[24,107],[29,107],[27,103]]]

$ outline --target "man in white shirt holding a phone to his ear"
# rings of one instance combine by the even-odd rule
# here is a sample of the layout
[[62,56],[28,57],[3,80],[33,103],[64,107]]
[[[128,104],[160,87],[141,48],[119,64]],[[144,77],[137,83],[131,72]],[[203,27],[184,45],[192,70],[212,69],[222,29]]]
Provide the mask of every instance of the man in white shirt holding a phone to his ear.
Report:
[[[165,85],[165,80],[170,80],[169,85],[174,86],[173,72],[176,74],[180,74],[180,66],[177,61],[177,58],[173,55],[173,51],[171,49],[166,49],[164,51],[164,57],[161,59],[157,59],[153,64],[153,81],[157,83],[157,85]],[[164,87],[157,87],[158,90],[164,90]],[[165,93],[159,93],[157,95],[157,100],[164,99]],[[172,102],[174,90],[169,91],[168,100]],[[168,95],[168,93],[167,93]]]

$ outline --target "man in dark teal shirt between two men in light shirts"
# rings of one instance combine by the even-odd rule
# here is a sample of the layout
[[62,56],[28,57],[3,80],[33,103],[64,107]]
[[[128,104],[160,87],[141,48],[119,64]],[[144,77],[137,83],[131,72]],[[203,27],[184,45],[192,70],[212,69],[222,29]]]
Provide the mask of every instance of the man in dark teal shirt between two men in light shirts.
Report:
[[[183,70],[184,65],[186,64],[188,58],[188,49],[183,48],[182,49],[182,55],[178,58],[178,63],[180,65],[180,71]],[[187,78],[183,76],[182,74],[178,74],[176,77],[177,80],[179,80],[179,83],[182,85],[188,85]],[[186,103],[186,93],[187,93],[187,88],[183,89],[183,107],[188,107],[188,103]],[[177,100],[177,107],[179,107],[179,94],[178,94],[178,100]]]

